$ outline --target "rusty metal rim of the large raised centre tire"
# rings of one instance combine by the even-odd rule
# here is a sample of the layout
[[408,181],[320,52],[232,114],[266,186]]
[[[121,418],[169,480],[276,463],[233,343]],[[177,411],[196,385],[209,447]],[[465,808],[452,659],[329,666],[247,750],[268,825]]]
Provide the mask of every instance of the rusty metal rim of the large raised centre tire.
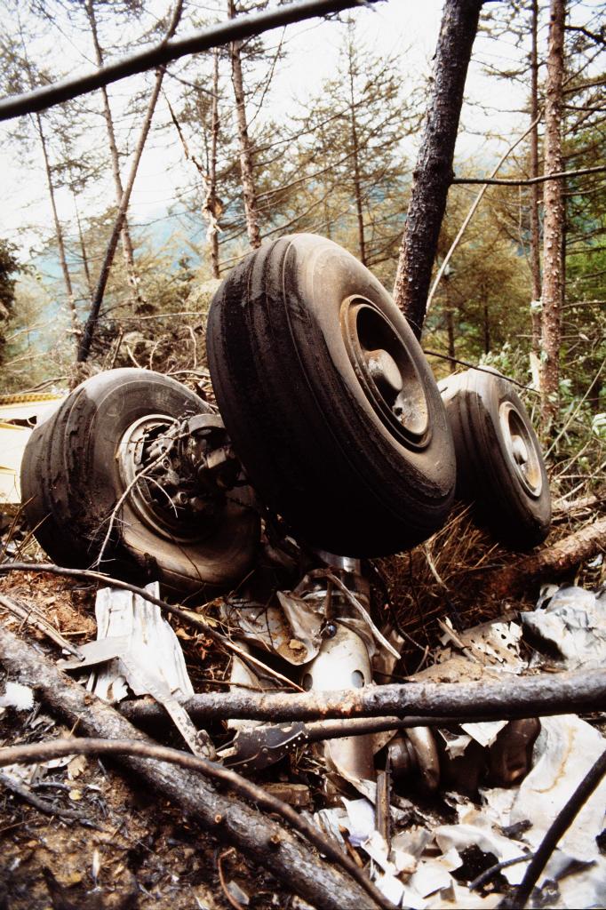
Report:
[[341,332],[351,365],[374,412],[409,447],[429,443],[429,405],[405,342],[370,300],[350,297],[341,306]]

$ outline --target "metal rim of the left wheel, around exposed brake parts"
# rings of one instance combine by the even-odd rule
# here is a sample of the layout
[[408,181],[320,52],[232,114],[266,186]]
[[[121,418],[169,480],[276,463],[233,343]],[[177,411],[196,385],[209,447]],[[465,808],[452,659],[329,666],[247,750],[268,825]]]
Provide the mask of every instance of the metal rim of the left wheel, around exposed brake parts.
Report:
[[[125,491],[129,489],[129,504],[138,518],[169,541],[192,543],[208,536],[208,519],[211,516],[192,512],[187,501],[177,499],[182,493],[177,492],[171,497],[170,480],[167,483],[165,478],[172,466],[168,458],[161,458],[161,454],[174,442],[168,430],[177,423],[166,414],[147,414],[136,420],[120,441],[118,464]],[[151,463],[155,461],[156,470],[151,468]],[[136,480],[143,470],[146,471],[145,476]],[[164,478],[161,480],[162,473]],[[174,487],[178,487],[177,480]]]

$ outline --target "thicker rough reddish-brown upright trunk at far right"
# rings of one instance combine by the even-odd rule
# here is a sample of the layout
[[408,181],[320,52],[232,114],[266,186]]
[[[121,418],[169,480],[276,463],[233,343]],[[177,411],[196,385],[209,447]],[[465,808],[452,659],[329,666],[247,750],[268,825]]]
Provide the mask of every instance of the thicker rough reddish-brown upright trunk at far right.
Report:
[[[551,0],[545,98],[545,174],[560,173],[561,107],[564,74],[565,0]],[[561,248],[564,203],[561,180],[547,180],[543,190],[543,288],[541,308],[540,392],[542,421],[548,428],[558,413],[563,276]]]

